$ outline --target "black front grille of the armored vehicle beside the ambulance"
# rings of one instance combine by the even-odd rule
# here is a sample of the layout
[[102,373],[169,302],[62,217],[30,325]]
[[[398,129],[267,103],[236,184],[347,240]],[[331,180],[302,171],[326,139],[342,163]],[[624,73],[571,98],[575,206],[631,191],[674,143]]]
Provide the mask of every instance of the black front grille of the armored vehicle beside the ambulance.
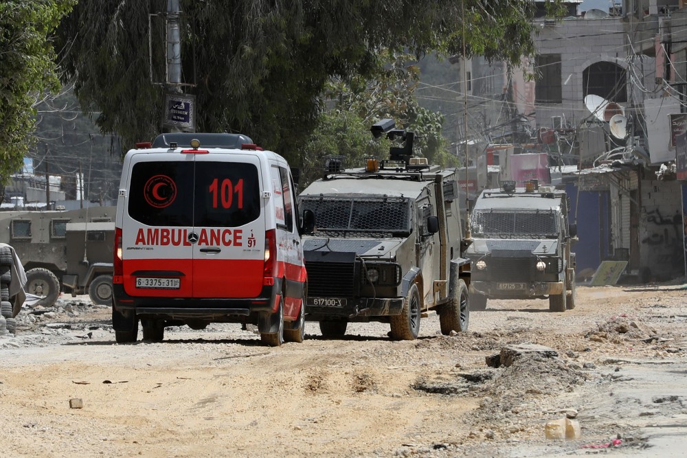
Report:
[[350,262],[306,262],[308,295],[353,297],[355,264]]

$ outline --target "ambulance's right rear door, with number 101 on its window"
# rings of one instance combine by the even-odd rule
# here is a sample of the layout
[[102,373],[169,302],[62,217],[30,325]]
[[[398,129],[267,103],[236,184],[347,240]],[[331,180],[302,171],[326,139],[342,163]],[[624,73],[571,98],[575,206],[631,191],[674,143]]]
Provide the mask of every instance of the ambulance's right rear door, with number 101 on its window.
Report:
[[260,160],[266,159],[235,151],[195,157],[194,297],[259,297],[269,202]]

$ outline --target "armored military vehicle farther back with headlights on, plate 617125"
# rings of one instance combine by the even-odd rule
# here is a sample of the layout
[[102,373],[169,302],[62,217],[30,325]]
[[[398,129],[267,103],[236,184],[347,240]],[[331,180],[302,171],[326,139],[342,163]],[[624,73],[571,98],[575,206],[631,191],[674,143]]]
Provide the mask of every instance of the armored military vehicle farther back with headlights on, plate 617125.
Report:
[[575,307],[576,225],[570,224],[565,192],[525,188],[504,181],[484,190],[471,213],[473,264],[471,306],[484,310],[487,299],[549,299],[552,312]]

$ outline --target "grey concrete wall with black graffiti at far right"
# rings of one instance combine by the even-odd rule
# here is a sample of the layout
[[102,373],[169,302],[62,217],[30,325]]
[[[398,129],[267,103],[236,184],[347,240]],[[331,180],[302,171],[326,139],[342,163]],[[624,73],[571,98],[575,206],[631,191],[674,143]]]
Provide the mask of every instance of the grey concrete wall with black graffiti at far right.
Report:
[[684,275],[682,183],[642,180],[640,277],[664,281]]

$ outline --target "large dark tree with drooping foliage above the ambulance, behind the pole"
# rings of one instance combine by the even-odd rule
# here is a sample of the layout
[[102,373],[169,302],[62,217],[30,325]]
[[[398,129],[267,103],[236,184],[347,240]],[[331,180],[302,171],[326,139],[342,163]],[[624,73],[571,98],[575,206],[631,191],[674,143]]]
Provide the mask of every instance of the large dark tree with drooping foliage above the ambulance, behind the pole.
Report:
[[[198,130],[240,131],[289,159],[316,124],[328,79],[370,76],[379,49],[462,52],[465,19],[468,55],[516,63],[534,51],[530,0],[180,3]],[[121,135],[125,146],[160,131],[164,89],[150,79],[164,68],[164,25],[153,20],[149,31],[148,14],[165,5],[81,0],[60,27],[65,78],[76,80],[85,110],[102,111],[103,133]]]

